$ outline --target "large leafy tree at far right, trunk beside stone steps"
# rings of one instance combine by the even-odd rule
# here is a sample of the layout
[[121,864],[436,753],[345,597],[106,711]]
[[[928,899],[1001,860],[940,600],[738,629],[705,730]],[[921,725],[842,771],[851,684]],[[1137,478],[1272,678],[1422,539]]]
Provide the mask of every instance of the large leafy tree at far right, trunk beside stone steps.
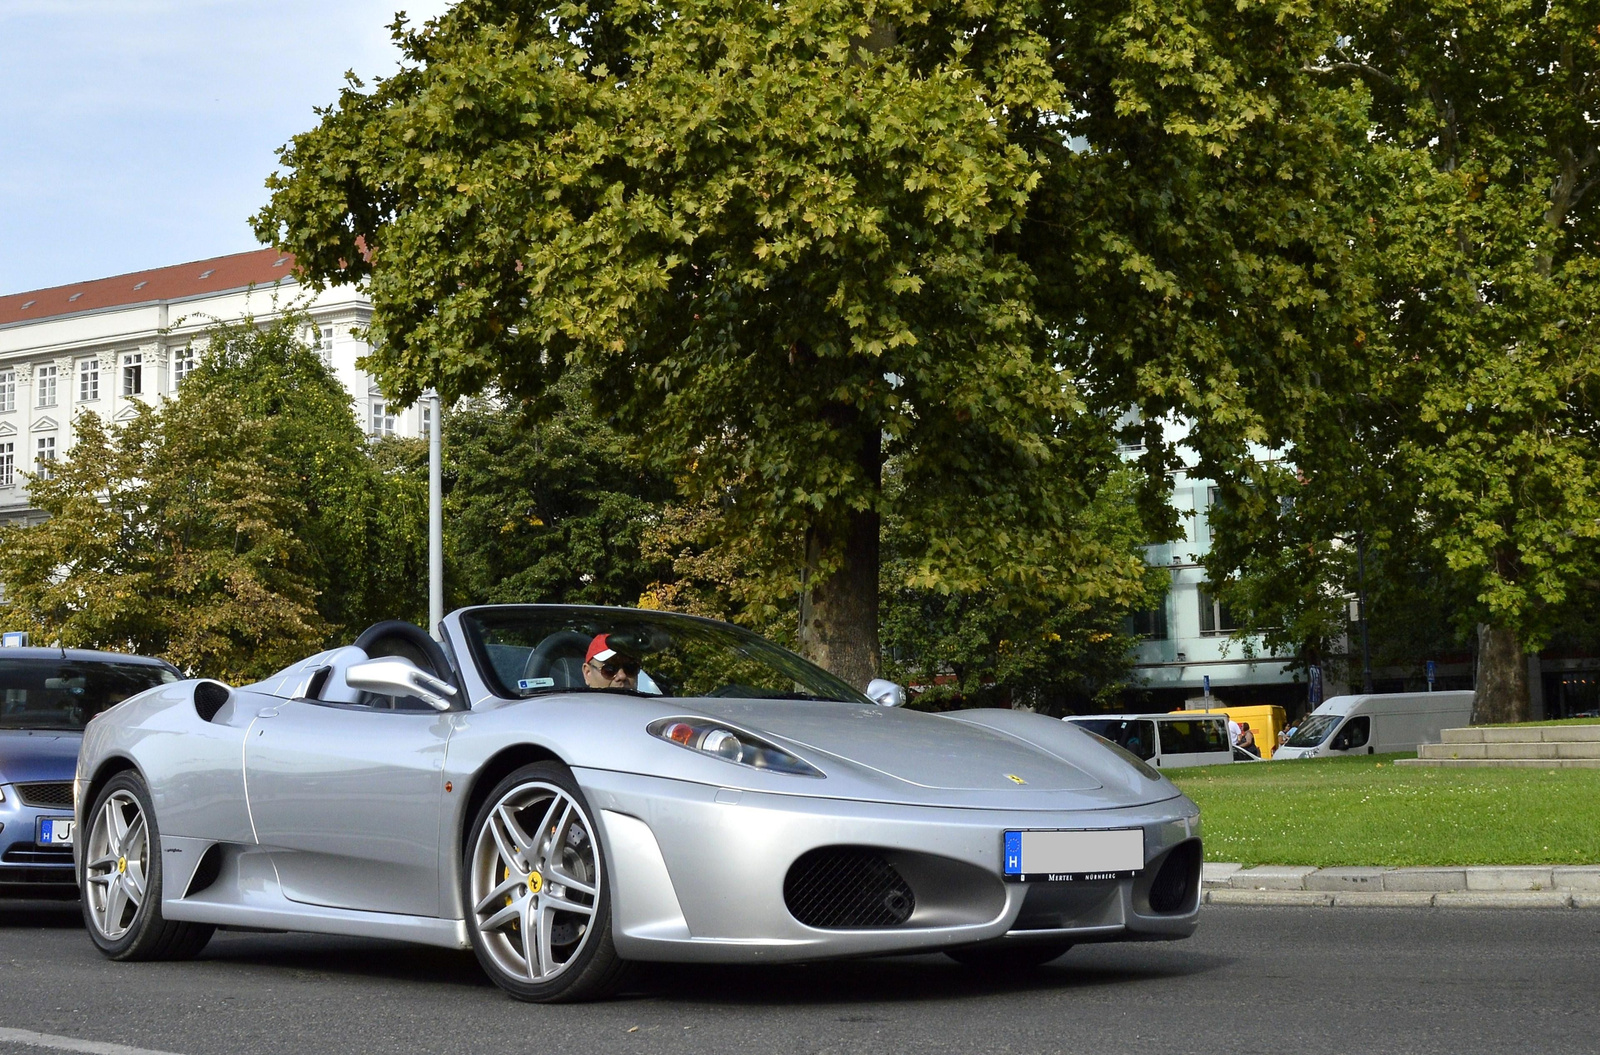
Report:
[[[1258,487],[1299,501],[1280,517],[1256,499],[1256,557],[1309,533],[1302,552],[1342,564],[1328,576],[1342,592],[1352,548],[1333,540],[1363,533],[1381,600],[1414,615],[1432,594],[1475,636],[1475,720],[1525,719],[1526,653],[1582,616],[1600,576],[1600,10],[1334,14],[1342,32],[1310,69],[1368,114],[1347,197],[1365,211],[1349,234],[1368,255],[1370,320],[1294,431],[1298,479]],[[1251,578],[1227,557],[1216,572]]]

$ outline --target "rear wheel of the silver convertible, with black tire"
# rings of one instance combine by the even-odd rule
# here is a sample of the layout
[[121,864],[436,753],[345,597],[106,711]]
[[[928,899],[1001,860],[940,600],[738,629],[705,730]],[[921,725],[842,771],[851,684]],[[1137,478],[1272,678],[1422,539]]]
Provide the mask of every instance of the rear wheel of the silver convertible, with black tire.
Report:
[[[99,845],[112,836],[109,828],[102,828],[102,821],[110,824],[106,810],[118,810],[128,845]],[[136,836],[136,824],[144,828],[142,839]],[[162,836],[155,826],[150,789],[144,786],[142,776],[126,770],[106,781],[94,796],[86,831],[80,837],[85,839],[78,871],[83,927],[101,953],[114,961],[179,961],[192,959],[205,948],[216,927],[162,916]],[[142,844],[142,848],[136,844]],[[109,850],[120,852],[115,864],[104,863]],[[99,864],[96,858],[101,860]],[[130,905],[134,889],[130,885],[130,869],[133,876],[142,872],[144,889],[138,895],[138,905]],[[120,908],[115,890],[122,890]],[[107,922],[112,911],[117,916],[115,925]]]

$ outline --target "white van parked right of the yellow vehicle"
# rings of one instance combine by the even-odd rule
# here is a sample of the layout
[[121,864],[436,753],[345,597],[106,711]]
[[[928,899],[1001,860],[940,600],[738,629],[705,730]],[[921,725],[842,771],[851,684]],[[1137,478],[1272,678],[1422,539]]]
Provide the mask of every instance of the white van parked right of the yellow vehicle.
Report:
[[1416,751],[1440,730],[1472,722],[1472,692],[1392,692],[1334,696],[1307,714],[1272,759]]

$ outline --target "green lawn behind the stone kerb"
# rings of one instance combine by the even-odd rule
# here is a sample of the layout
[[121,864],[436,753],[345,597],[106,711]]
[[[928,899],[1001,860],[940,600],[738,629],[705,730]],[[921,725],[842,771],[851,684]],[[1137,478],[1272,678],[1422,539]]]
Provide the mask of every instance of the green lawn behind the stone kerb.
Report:
[[1597,864],[1600,768],[1434,768],[1397,757],[1171,770],[1208,861]]

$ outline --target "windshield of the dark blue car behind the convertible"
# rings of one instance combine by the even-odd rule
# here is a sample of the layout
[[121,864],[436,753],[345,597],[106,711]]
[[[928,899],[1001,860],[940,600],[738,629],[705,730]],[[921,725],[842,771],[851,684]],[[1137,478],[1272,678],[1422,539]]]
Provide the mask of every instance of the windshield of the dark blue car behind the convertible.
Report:
[[80,730],[106,708],[176,680],[154,663],[0,658],[0,728]]

